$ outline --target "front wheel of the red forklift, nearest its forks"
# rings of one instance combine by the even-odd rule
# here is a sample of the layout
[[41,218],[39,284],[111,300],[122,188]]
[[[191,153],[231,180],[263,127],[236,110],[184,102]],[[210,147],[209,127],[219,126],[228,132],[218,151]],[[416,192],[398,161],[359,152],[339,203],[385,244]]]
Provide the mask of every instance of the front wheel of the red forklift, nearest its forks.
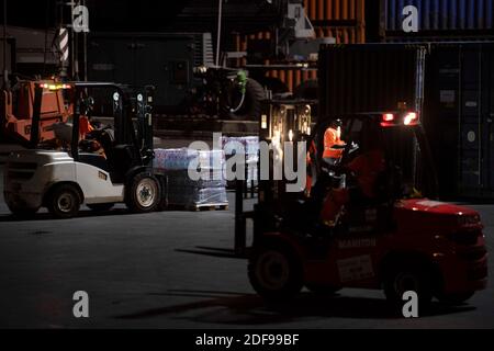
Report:
[[268,244],[252,252],[248,276],[254,290],[270,302],[293,298],[303,286],[303,268],[288,247]]

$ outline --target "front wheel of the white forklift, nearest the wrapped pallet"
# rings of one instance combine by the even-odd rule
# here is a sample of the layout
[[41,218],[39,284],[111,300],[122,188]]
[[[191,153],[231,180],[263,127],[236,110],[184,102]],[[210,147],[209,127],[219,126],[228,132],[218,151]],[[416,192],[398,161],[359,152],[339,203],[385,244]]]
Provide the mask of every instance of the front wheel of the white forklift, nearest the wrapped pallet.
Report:
[[153,212],[161,202],[159,181],[149,172],[137,173],[125,188],[125,204],[134,213]]

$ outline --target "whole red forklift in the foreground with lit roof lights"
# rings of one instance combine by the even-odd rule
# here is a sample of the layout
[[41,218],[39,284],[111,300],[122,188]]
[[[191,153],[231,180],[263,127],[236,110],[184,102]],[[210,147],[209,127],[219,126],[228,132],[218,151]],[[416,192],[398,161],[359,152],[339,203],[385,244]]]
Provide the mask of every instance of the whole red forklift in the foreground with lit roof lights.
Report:
[[[261,116],[260,140],[315,146],[311,176],[316,180],[311,196],[287,192],[285,180],[260,180],[251,212],[243,210],[245,191],[237,182],[235,253],[248,258],[248,278],[259,295],[280,301],[304,286],[317,294],[353,287],[383,290],[391,303],[403,304],[403,294],[414,291],[426,306],[433,297],[460,304],[485,288],[487,250],[480,215],[430,200],[437,181],[418,113],[341,116],[344,156],[329,167],[322,155],[332,121],[302,131],[296,115],[280,116],[283,109],[271,104]],[[325,227],[319,213],[328,192],[335,186],[348,188],[350,194],[358,189],[346,165],[366,151],[366,138],[379,138],[384,152],[378,195],[350,196],[335,226]],[[251,247],[246,244],[247,219],[252,220]]]

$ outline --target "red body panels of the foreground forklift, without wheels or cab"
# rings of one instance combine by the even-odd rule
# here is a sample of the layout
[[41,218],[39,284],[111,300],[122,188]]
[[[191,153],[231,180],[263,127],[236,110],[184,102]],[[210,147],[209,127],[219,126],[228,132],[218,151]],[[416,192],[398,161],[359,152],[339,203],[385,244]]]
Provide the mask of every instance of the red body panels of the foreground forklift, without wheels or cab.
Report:
[[294,248],[304,264],[305,283],[381,288],[386,258],[408,254],[430,262],[444,293],[485,288],[487,251],[475,211],[427,199],[403,200],[392,218],[395,226],[389,231],[335,235],[324,258],[312,258],[291,235],[268,235]]

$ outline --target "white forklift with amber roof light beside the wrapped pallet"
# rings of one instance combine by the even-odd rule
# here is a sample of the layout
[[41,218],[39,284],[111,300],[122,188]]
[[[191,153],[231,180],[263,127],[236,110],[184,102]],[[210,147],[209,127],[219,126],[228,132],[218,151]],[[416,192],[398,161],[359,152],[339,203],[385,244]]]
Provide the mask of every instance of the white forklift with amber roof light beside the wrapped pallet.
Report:
[[[38,143],[42,95],[47,89],[64,89],[74,110],[65,145]],[[100,97],[106,93],[103,101],[113,118],[82,139],[80,124],[87,122],[93,91]],[[12,152],[4,170],[10,211],[25,217],[45,206],[56,218],[74,217],[81,204],[94,211],[110,210],[115,203],[125,203],[132,212],[155,211],[161,202],[162,180],[153,171],[151,103],[151,87],[135,93],[105,82],[37,84],[32,148]],[[98,145],[99,151],[91,145]]]

